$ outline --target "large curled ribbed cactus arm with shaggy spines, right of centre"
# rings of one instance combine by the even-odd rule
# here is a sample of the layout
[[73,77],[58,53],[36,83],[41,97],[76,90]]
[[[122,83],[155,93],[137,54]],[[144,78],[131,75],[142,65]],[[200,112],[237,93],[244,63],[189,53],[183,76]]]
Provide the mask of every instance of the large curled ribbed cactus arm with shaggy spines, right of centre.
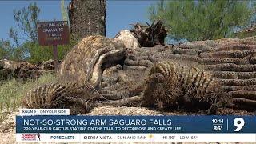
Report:
[[208,110],[221,102],[218,86],[210,72],[195,64],[173,60],[158,62],[150,70],[142,106]]

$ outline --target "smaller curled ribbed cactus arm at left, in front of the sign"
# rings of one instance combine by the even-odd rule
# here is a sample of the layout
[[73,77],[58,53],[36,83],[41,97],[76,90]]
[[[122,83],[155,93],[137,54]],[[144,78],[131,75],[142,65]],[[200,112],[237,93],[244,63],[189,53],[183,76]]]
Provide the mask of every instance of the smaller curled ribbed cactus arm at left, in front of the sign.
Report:
[[70,114],[84,114],[96,106],[98,94],[94,89],[78,82],[54,82],[30,90],[23,98],[26,108],[70,109]]

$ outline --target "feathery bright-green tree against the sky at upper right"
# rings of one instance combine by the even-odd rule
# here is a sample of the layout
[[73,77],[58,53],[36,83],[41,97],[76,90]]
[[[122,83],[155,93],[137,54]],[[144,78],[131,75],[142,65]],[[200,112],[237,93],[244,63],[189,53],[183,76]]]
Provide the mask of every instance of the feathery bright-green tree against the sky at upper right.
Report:
[[187,41],[231,37],[254,14],[246,1],[160,1],[149,8],[150,21],[161,19],[170,38]]

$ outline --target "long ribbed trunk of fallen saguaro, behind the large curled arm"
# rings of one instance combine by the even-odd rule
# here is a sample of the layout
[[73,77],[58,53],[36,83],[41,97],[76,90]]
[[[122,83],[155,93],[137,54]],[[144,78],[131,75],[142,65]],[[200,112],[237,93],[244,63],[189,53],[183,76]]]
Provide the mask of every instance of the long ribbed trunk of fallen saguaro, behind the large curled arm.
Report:
[[[256,38],[222,38],[216,41],[187,42],[178,46],[142,47],[132,50],[130,54],[127,58],[133,61],[126,60],[124,66],[129,65],[134,69],[141,66],[140,61],[150,61],[153,64],[162,60],[197,62],[203,69],[210,71],[214,78],[218,78],[225,93],[229,93],[230,99],[234,100],[234,107],[256,110],[252,99],[256,98],[255,89],[252,88],[256,78]],[[150,69],[144,67],[145,71]],[[160,85],[162,84],[158,85],[159,94],[162,91]],[[231,88],[227,88],[230,86]],[[239,90],[243,92],[236,92]],[[246,102],[249,102],[249,106],[246,106]]]

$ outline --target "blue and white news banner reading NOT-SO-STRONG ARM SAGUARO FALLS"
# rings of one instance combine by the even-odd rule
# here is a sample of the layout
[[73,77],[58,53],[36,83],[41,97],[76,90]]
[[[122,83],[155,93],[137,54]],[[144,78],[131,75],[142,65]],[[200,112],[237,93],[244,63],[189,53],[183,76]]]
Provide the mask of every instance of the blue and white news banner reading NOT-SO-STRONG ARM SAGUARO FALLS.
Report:
[[256,142],[256,116],[16,117],[17,142]]

